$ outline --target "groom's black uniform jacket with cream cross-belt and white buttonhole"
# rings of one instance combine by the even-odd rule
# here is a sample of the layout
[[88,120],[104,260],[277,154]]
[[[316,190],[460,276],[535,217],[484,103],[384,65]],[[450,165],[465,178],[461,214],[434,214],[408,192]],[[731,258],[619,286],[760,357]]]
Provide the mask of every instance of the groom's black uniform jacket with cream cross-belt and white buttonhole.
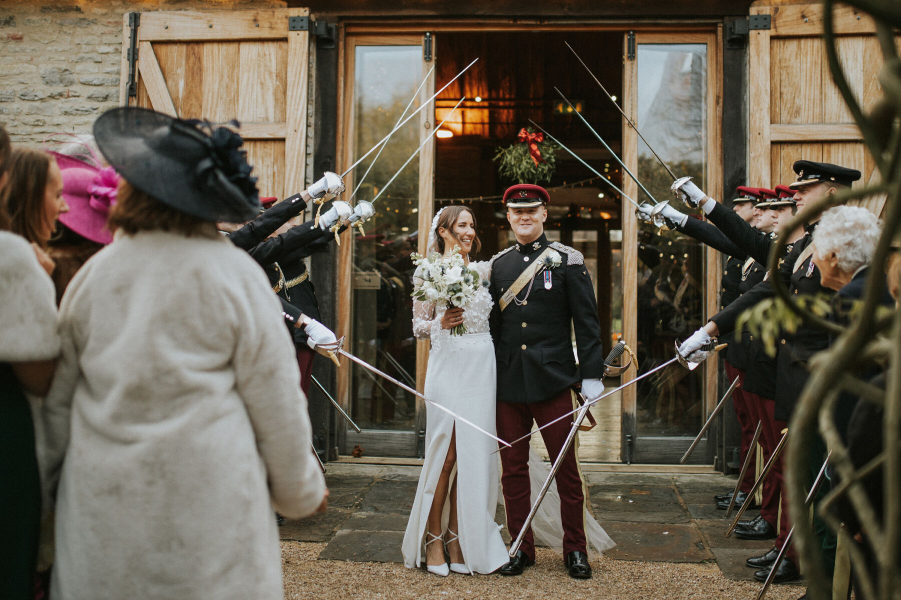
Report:
[[[519,274],[552,245],[558,267],[533,278],[504,311],[500,299]],[[492,259],[491,337],[497,359],[497,401],[532,403],[549,400],[582,379],[604,376],[601,327],[595,291],[580,252],[542,235],[536,242],[507,248]],[[576,332],[579,364],[572,351],[570,325]]]

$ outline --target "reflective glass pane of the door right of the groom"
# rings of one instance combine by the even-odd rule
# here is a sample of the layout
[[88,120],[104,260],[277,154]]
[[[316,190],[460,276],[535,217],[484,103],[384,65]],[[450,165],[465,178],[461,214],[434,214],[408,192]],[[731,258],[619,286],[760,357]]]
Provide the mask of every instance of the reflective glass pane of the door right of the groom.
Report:
[[[702,189],[707,161],[706,63],[705,44],[638,47],[637,124],[673,173],[691,175]],[[641,139],[636,175],[656,200],[675,202],[669,193],[672,178]],[[694,239],[639,223],[639,373],[672,358],[676,340],[684,340],[703,324],[704,256],[703,245]],[[704,411],[702,372],[674,364],[639,382],[638,434],[696,434]]]

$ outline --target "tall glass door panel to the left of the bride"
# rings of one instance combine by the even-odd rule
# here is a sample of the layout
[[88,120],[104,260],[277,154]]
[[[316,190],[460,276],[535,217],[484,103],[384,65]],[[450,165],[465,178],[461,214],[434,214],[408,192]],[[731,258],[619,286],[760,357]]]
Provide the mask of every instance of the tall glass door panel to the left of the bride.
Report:
[[[394,129],[422,83],[423,49],[418,38],[414,40],[414,44],[391,37],[350,40],[346,64],[353,77],[352,113],[344,139],[350,142],[353,156],[348,157],[348,164]],[[417,94],[406,114],[419,108],[429,89],[423,86],[423,93]],[[419,147],[425,133],[422,121],[414,117],[391,136],[381,152],[372,153],[345,178],[352,191],[369,171],[353,200],[373,201],[378,196],[376,215],[367,223],[366,234],[354,231],[352,245],[342,248],[350,253],[352,271],[350,297],[342,299],[350,304],[344,329],[349,334],[349,350],[412,388],[416,387],[417,370],[411,254],[418,239],[420,162],[411,161],[390,187],[385,186]],[[366,455],[415,455],[417,423],[422,419],[414,394],[356,364],[350,365],[347,377],[350,416],[363,432],[346,432],[343,452],[350,453],[359,444]]]

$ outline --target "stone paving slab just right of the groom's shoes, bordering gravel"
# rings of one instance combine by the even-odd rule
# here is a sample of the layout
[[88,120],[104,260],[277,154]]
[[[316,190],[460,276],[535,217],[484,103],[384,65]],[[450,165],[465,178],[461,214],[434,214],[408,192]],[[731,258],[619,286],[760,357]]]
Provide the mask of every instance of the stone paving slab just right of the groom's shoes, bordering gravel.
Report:
[[714,560],[696,527],[691,524],[623,523],[602,521],[616,546],[605,556],[617,560],[701,562]]

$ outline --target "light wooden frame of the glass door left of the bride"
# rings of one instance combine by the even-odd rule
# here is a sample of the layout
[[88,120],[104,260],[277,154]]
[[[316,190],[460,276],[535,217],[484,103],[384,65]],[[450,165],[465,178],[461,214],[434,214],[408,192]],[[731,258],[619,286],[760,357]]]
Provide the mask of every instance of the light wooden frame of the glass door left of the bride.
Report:
[[[354,130],[354,111],[353,111],[353,89],[354,89],[354,61],[355,48],[357,46],[423,46],[424,33],[394,33],[389,31],[379,32],[360,32],[348,34],[346,31],[339,33],[338,42],[338,81],[341,82],[338,87],[338,139],[339,150],[337,153],[337,170],[339,173],[344,171],[359,157],[359,155],[369,149],[355,148],[352,138]],[[436,40],[432,39],[432,63],[436,57]],[[423,60],[423,76],[428,72],[430,63]],[[435,74],[429,77],[429,82],[423,85],[420,91],[420,101],[424,102],[434,94]],[[423,109],[417,115],[419,121],[420,141],[429,135],[432,128],[433,111]],[[435,140],[432,136],[425,143],[419,153],[419,209],[418,209],[418,228],[420,232],[428,231],[432,225],[432,213],[434,207],[434,157],[435,157]],[[345,177],[345,183],[349,190],[356,187],[354,175],[351,172]],[[353,236],[344,237],[347,241],[341,245],[338,252],[338,273],[335,278],[335,284],[339,291],[344,290],[346,293],[337,294],[338,297],[338,318],[336,320],[335,332],[339,337],[345,336],[345,339],[351,339],[351,311],[353,296]],[[419,247],[417,251],[421,254],[425,252],[425,244],[428,240],[427,236],[419,236]],[[428,363],[428,342],[423,340],[416,341],[416,389],[422,391],[425,383],[425,368]],[[350,363],[344,361],[338,369],[337,381],[337,400],[345,410],[350,414]],[[347,448],[352,443],[376,443],[382,447],[404,446],[405,441],[397,442],[398,438],[406,438],[413,436],[414,439],[410,443],[415,449],[424,443],[425,414],[424,403],[422,399],[416,399],[416,425],[414,432],[396,432],[389,430],[364,430],[364,434],[356,434],[349,431],[346,427],[339,429],[338,443],[339,447]],[[422,430],[422,431],[421,431]]]

